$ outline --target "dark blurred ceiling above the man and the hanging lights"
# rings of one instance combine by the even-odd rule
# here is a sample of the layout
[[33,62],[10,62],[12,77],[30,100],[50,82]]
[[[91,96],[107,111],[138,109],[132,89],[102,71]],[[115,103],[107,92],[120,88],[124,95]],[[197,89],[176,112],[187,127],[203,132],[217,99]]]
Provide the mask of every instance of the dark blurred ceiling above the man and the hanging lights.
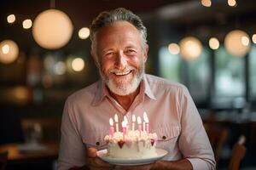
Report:
[[[201,6],[201,0],[3,0],[0,5],[2,22],[8,14],[16,14],[20,20],[32,20],[51,3],[55,8],[66,12],[73,20],[74,26],[88,26],[91,20],[103,10],[118,7],[131,9],[136,14],[158,13],[162,19],[179,22],[195,22],[195,20],[220,17],[222,14],[241,15],[254,13],[254,0],[236,0],[238,6],[230,8],[227,0],[212,0],[211,8]],[[139,2],[139,3],[138,3]],[[181,20],[183,19],[183,20]],[[3,25],[3,23],[0,23]]]

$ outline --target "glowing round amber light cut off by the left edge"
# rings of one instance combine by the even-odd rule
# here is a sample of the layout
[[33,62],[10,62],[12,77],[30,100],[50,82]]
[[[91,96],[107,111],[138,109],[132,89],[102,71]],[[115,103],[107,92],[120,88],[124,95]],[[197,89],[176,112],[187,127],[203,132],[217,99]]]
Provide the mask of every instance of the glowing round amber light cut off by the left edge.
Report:
[[9,64],[17,59],[19,54],[18,45],[12,40],[0,42],[0,62]]

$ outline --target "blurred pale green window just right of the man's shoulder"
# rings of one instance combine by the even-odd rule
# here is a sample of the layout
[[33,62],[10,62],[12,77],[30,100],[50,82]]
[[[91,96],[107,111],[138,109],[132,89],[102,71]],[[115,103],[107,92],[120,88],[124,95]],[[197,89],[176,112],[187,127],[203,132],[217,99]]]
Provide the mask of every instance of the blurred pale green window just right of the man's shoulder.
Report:
[[182,82],[196,103],[206,102],[210,92],[210,52],[203,50],[198,59],[183,61],[180,55],[169,53],[168,48],[160,48],[160,77],[174,82]]

